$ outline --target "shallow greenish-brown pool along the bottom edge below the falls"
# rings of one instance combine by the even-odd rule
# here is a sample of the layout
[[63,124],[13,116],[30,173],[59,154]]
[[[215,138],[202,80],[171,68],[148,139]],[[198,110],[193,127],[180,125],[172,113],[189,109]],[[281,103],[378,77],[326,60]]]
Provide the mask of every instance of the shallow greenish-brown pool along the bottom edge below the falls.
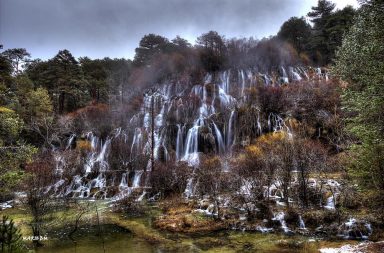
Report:
[[[101,231],[101,232],[100,232]],[[281,234],[226,231],[201,235],[162,233],[167,242],[148,242],[116,225],[82,227],[73,236],[52,235],[38,253],[149,253],[149,252],[260,252],[314,253],[319,248],[339,246],[330,242]]]

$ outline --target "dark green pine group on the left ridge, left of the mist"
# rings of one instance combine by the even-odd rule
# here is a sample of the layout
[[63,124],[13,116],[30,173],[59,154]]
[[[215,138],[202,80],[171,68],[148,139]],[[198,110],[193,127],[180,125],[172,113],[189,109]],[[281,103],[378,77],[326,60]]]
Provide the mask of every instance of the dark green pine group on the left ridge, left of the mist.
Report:
[[121,101],[131,63],[125,59],[76,60],[68,50],[48,61],[34,61],[25,70],[36,86],[49,91],[55,112],[74,111],[89,102]]

